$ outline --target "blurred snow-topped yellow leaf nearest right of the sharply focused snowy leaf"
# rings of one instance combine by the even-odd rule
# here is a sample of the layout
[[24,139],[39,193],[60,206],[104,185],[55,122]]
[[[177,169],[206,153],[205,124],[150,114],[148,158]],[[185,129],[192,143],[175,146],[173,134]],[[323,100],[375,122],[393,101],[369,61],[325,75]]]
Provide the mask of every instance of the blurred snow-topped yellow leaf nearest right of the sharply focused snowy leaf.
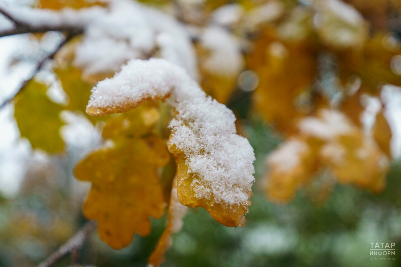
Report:
[[308,142],[292,138],[266,158],[266,193],[274,202],[288,202],[315,170],[316,153]]

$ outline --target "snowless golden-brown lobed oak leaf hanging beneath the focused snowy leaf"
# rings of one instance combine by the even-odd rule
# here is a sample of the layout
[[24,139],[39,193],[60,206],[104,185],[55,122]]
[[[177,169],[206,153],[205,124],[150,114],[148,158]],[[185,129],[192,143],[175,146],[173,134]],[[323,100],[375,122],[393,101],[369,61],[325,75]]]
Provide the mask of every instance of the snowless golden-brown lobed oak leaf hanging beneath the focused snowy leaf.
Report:
[[92,182],[83,214],[98,223],[99,237],[114,249],[128,246],[135,233],[150,233],[149,217],[160,218],[165,202],[157,169],[170,159],[164,140],[119,138],[92,152],[75,167],[75,177]]

